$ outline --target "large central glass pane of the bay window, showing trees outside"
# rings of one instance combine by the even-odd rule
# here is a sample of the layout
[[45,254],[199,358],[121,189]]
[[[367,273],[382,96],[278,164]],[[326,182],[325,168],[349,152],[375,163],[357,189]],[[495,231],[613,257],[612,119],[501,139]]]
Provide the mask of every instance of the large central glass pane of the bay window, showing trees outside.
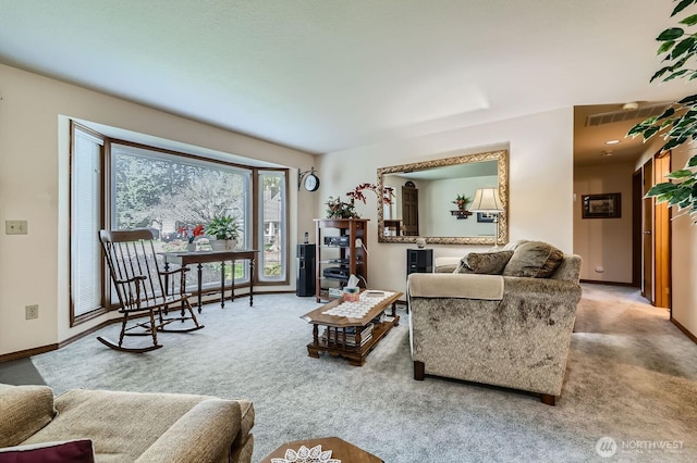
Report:
[[[111,143],[111,172],[112,228],[150,228],[159,238],[157,250],[184,251],[189,230],[198,225],[205,228],[213,217],[228,215],[241,226],[240,246],[249,247],[245,230],[252,228],[252,170]],[[210,249],[207,238],[196,241],[199,249]],[[205,288],[220,286],[221,265],[204,265]],[[249,279],[246,264],[236,270],[236,283]],[[193,289],[196,272],[187,278]]]

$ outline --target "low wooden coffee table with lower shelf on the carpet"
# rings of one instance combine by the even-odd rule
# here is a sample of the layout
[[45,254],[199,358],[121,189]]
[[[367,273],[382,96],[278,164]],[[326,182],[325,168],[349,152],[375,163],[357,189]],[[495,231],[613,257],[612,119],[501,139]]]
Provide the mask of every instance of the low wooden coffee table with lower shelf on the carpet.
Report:
[[[302,316],[303,320],[313,324],[313,341],[307,345],[307,354],[309,356],[319,359],[320,352],[328,352],[330,355],[340,355],[348,359],[351,364],[355,366],[365,364],[366,356],[380,339],[393,326],[400,324],[400,317],[395,313],[395,302],[402,296],[401,292],[396,291],[383,291],[387,297],[372,301],[372,298],[365,299],[368,292],[370,291],[360,293],[362,301],[371,304],[369,311],[363,316],[350,317],[325,313],[342,304],[344,302],[343,298],[335,299]],[[374,323],[372,329],[370,329],[369,325],[374,318],[390,306],[392,306],[392,314],[386,315],[382,322]],[[326,327],[321,334],[319,331],[320,326]]]

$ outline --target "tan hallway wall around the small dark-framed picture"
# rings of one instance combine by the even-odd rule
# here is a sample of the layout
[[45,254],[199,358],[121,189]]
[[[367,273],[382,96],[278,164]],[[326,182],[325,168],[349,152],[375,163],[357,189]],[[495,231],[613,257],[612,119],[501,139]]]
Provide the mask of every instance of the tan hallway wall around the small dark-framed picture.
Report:
[[[574,172],[574,252],[580,278],[632,283],[632,176],[634,163],[578,166]],[[583,218],[584,195],[622,195],[620,218]],[[602,271],[598,271],[602,268]]]

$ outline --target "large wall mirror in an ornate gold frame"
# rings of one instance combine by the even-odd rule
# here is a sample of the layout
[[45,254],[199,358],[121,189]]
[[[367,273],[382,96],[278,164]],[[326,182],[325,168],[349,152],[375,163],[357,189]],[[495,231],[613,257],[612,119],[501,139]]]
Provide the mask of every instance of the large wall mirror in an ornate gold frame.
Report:
[[[464,154],[378,168],[378,242],[504,245],[509,240],[506,150]],[[458,208],[480,188],[498,188],[498,214]],[[381,195],[381,196],[380,196]]]

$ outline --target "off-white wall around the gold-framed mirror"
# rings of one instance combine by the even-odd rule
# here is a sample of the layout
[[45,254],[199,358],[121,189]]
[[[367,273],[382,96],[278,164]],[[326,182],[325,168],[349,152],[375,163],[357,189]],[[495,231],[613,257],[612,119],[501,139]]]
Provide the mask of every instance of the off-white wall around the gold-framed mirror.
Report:
[[[321,157],[320,203],[345,196],[364,182],[377,182],[377,168],[508,149],[510,157],[510,239],[549,241],[573,251],[573,109],[463,127],[447,133],[381,143]],[[378,243],[377,198],[356,210],[368,223],[368,284],[405,290],[406,249],[413,245]],[[325,207],[317,209],[325,216]],[[476,247],[432,246],[435,256],[462,256]]]

